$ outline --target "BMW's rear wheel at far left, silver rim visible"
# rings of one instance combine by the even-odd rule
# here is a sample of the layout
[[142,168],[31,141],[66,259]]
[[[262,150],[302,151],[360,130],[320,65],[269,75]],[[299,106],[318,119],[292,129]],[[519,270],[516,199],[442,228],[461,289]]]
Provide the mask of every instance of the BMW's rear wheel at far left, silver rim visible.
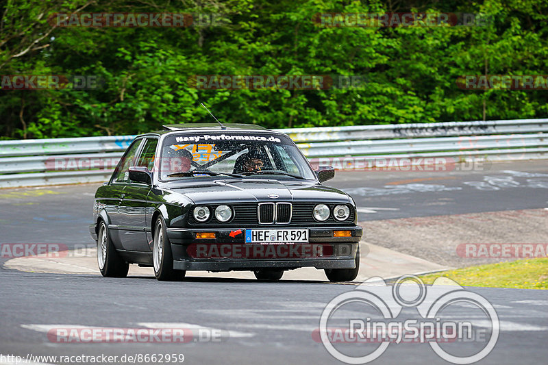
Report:
[[116,252],[104,221],[99,223],[97,234],[97,265],[104,277],[127,277],[129,270],[129,264]]

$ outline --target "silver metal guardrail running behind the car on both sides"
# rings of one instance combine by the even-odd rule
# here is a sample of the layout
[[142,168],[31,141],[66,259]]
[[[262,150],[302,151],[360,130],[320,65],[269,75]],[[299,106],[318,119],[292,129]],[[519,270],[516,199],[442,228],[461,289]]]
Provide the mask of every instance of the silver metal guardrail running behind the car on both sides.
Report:
[[[342,170],[386,158],[548,158],[548,118],[275,130],[295,140],[312,164]],[[0,188],[106,181],[134,138],[0,141]]]

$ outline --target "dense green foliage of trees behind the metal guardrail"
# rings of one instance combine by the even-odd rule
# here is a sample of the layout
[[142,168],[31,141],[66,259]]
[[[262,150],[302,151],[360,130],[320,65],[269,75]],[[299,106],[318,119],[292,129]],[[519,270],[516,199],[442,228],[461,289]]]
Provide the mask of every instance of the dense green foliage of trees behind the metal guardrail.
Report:
[[[5,0],[0,75],[99,75],[96,90],[0,90],[0,138],[548,116],[548,91],[462,90],[461,75],[546,75],[547,0]],[[63,12],[225,14],[221,27],[52,27]],[[465,12],[484,27],[321,27],[323,12]],[[198,90],[192,75],[362,75],[361,88]]]

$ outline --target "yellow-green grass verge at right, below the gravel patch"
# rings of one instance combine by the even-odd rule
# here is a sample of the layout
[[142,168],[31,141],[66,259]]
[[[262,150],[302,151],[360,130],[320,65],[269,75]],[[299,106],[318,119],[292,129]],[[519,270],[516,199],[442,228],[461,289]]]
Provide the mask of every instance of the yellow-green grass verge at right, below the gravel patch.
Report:
[[422,275],[425,284],[438,277],[449,277],[462,286],[490,288],[548,289],[548,258],[533,258],[470,266]]

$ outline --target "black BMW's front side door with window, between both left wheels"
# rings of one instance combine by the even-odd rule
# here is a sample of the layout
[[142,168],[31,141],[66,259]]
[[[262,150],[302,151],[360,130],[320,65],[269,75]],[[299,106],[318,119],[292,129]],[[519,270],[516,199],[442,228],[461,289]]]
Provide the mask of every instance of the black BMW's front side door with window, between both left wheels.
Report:
[[[153,168],[156,146],[158,138],[145,138],[138,158],[132,166],[144,166],[151,170]],[[151,247],[145,233],[147,224],[145,221],[147,210],[147,196],[151,190],[149,184],[129,179],[123,190],[121,199],[121,223],[120,239],[124,250],[151,252]]]

